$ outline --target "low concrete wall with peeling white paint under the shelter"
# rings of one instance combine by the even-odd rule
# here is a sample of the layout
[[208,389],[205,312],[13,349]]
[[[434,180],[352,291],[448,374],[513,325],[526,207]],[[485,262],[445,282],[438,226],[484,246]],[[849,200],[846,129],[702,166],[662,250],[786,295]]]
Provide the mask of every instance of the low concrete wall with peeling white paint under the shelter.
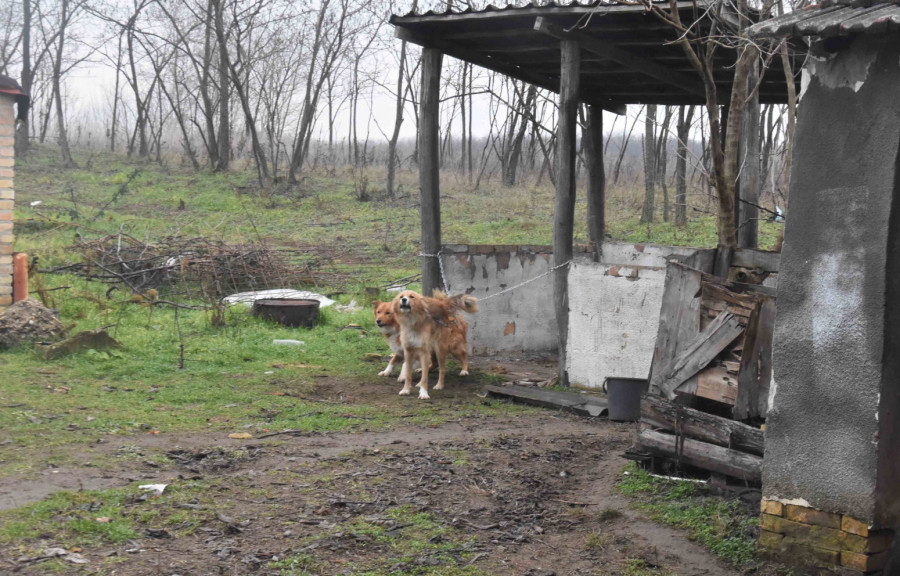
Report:
[[[569,271],[569,378],[600,386],[607,376],[646,378],[650,371],[666,261],[693,248],[606,243],[603,261],[576,251]],[[550,270],[549,246],[445,246],[450,291],[478,298]],[[553,351],[557,327],[552,275],[481,303],[469,318],[476,353]]]

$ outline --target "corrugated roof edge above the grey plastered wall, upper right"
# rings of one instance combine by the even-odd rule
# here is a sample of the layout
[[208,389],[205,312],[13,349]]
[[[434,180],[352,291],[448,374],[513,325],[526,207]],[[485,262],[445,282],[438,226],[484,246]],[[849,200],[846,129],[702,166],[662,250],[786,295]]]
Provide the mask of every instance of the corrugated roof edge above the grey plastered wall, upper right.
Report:
[[756,37],[846,36],[900,32],[900,0],[826,0],[752,26]]

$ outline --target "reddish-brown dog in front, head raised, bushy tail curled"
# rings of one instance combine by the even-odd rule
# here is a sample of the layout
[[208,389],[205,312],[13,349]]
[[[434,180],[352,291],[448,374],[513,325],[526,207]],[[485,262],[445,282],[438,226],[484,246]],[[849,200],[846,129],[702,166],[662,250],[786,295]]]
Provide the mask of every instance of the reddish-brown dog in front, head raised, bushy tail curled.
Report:
[[[448,297],[435,292],[434,297],[422,296],[412,290],[401,292],[391,302],[391,313],[400,325],[400,345],[403,347],[403,374],[401,396],[410,393],[412,361],[429,366],[431,354],[437,357],[438,381],[435,390],[444,387],[447,357],[452,355],[462,364],[460,376],[469,375],[469,351],[466,339],[469,325],[457,311],[478,312],[478,302],[472,296]],[[419,380],[419,398],[428,399],[428,370],[422,370]]]

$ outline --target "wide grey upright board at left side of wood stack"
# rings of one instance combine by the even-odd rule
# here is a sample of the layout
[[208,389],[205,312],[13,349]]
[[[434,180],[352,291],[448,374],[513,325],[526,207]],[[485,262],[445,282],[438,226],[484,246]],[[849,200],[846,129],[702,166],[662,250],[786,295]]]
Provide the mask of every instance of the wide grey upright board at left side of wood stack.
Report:
[[659,394],[666,366],[700,333],[700,288],[702,273],[682,264],[666,266],[666,283],[659,310],[656,347],[650,365],[650,393]]

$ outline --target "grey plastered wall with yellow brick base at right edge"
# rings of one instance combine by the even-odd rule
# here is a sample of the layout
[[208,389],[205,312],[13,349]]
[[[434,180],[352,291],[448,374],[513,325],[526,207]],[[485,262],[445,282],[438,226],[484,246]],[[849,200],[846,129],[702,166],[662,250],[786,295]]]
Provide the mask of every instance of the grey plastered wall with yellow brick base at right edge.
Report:
[[897,574],[900,43],[829,47],[811,47],[797,118],[760,545]]

